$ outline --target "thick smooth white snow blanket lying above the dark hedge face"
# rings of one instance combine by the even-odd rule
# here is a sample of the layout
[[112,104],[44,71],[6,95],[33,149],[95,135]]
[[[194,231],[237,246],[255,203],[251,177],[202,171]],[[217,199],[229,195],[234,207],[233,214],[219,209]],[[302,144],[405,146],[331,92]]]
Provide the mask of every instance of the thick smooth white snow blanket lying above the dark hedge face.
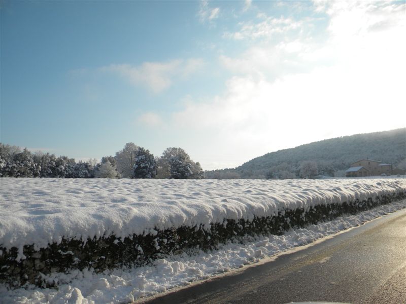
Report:
[[7,249],[62,238],[154,233],[224,219],[272,216],[406,191],[404,179],[0,179],[0,243]]

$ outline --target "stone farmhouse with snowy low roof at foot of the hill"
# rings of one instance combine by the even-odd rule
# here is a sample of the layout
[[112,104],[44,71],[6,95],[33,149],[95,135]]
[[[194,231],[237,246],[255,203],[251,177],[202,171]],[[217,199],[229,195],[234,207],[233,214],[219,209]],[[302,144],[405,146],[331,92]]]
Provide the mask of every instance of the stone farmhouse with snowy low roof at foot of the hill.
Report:
[[402,174],[401,169],[395,169],[397,170],[394,170],[391,164],[385,164],[375,160],[363,159],[351,164],[351,167],[346,170],[346,177]]

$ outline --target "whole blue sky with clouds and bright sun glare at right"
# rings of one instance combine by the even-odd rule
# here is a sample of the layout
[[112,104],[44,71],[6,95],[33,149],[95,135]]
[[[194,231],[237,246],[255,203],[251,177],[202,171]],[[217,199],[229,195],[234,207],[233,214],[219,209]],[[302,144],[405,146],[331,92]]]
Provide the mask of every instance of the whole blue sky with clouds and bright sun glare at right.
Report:
[[1,1],[0,141],[204,170],[406,126],[406,2]]

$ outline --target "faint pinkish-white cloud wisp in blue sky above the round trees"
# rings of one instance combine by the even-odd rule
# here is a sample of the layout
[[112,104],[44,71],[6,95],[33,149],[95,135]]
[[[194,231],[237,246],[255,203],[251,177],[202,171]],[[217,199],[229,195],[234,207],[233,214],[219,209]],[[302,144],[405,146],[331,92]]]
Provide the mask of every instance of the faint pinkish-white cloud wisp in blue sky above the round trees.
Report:
[[100,70],[115,72],[133,85],[144,85],[155,93],[169,88],[174,80],[185,79],[204,64],[202,59],[144,62],[140,66],[111,64]]

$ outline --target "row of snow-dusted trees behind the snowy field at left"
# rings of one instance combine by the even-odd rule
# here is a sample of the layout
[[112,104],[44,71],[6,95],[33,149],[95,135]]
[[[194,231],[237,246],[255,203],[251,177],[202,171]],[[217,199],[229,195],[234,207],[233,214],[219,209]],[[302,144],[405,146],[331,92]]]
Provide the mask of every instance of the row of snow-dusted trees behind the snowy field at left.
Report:
[[76,162],[0,143],[0,177],[202,179],[204,172],[179,147],[169,147],[162,156],[154,157],[148,149],[129,142],[115,156],[105,156],[100,162]]

